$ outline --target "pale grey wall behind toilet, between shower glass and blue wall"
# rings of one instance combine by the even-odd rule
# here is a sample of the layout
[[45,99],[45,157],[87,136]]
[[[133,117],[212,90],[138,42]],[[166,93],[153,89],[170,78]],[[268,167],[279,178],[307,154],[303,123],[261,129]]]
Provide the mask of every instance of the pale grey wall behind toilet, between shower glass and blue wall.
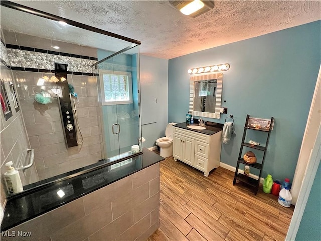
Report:
[[[142,136],[146,139],[143,147],[155,146],[156,139],[165,136],[167,125],[168,106],[168,60],[140,55],[140,85],[141,85],[141,109],[142,115],[155,115],[153,123],[142,125]],[[145,86],[152,86],[150,91],[154,93],[144,93]],[[146,101],[146,96],[150,102],[157,99],[157,103],[150,105]],[[152,109],[152,108],[156,108]]]

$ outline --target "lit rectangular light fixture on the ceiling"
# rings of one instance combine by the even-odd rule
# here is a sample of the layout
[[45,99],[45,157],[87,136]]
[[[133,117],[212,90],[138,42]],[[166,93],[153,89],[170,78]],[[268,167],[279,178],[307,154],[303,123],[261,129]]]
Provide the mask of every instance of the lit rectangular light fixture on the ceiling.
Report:
[[205,0],[194,0],[194,1],[185,1],[185,0],[174,0],[169,1],[170,5],[183,14],[191,16],[193,18],[200,16],[201,14],[206,13],[207,11],[214,8],[214,1],[205,1]]

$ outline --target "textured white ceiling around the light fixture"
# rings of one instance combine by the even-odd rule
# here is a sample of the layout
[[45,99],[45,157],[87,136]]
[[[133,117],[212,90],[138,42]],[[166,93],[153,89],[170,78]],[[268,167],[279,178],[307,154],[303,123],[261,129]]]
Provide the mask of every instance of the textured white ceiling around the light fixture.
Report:
[[14,2],[140,40],[142,54],[165,59],[321,19],[320,1],[214,1],[196,18],[168,1]]

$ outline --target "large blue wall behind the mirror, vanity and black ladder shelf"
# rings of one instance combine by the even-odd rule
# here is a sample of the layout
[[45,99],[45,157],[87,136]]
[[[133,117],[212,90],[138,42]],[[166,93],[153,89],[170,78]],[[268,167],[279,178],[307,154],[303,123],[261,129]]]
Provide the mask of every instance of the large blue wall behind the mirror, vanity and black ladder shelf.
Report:
[[[246,114],[275,118],[263,177],[293,179],[321,58],[321,21],[169,60],[168,121],[184,122],[189,108],[187,70],[229,63],[222,106],[234,115],[234,136],[221,162],[236,166]],[[226,102],[223,102],[226,100]],[[262,136],[257,141],[261,141]],[[258,154],[258,152],[255,152]]]

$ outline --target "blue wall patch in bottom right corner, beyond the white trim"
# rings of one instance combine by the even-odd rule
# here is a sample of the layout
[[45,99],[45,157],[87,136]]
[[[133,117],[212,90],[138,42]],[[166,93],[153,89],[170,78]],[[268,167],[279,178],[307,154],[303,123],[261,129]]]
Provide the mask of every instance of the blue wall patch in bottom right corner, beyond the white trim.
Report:
[[317,169],[309,199],[303,213],[297,241],[315,241],[321,239],[321,164]]

